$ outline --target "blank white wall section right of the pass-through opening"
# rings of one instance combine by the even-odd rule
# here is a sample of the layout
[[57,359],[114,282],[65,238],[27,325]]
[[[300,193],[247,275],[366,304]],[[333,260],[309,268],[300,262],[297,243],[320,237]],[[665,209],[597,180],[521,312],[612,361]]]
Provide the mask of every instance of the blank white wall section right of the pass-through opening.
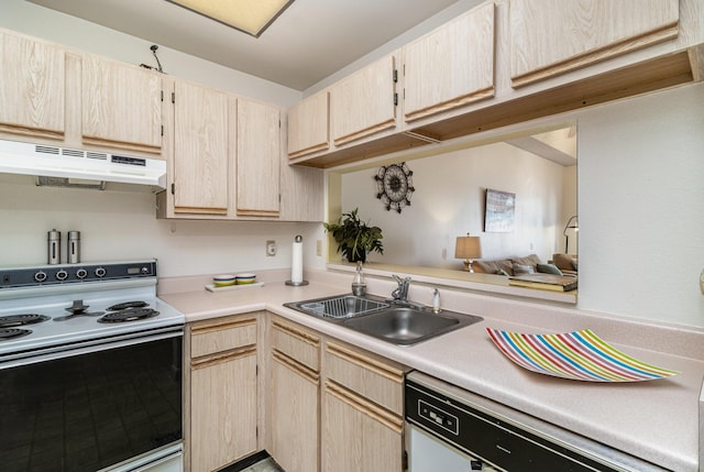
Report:
[[580,296],[704,327],[704,84],[579,114]]

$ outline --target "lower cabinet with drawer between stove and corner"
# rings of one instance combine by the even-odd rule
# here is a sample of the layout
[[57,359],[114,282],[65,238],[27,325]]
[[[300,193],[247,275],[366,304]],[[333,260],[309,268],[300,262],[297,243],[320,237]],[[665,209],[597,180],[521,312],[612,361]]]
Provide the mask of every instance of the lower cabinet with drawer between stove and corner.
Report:
[[185,470],[211,472],[257,450],[256,314],[186,328]]

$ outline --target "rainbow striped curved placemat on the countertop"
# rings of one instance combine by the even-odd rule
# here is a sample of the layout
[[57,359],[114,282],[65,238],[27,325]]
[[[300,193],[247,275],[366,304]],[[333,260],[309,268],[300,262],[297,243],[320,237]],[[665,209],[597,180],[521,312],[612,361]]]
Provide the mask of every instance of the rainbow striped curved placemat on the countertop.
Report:
[[508,359],[541,374],[590,382],[642,382],[681,373],[640,362],[588,329],[562,334],[486,331]]

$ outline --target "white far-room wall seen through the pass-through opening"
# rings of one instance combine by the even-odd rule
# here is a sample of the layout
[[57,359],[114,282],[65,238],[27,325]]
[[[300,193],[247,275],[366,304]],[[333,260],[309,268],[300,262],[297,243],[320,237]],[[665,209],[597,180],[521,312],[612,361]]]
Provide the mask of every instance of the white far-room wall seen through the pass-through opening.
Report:
[[[536,253],[548,261],[564,250],[564,212],[576,211],[573,171],[505,143],[454,151],[407,163],[416,191],[402,213],[386,211],[375,197],[378,167],[342,176],[342,210],[360,208],[363,220],[384,231],[387,264],[462,267],[455,238],[468,231],[482,238],[484,260]],[[566,176],[566,177],[565,177]],[[565,182],[572,184],[565,189]],[[486,188],[516,194],[515,230],[483,232]],[[571,194],[571,195],[570,195]],[[571,205],[563,208],[563,202]],[[560,238],[557,237],[559,227]]]

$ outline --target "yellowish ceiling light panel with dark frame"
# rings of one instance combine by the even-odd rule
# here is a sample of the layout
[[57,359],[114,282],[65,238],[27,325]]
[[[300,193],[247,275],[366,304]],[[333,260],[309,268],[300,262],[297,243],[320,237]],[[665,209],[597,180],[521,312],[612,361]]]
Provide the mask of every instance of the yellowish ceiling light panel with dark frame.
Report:
[[166,0],[258,37],[294,0]]

